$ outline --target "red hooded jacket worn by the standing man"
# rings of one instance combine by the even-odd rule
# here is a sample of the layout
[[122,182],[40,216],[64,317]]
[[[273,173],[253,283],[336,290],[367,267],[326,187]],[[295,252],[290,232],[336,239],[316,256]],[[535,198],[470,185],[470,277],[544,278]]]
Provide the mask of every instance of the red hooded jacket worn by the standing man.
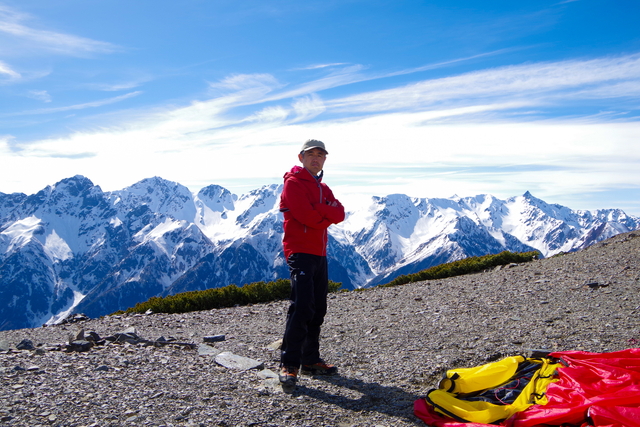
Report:
[[284,213],[284,256],[293,253],[327,255],[327,228],[344,220],[344,207],[333,196],[322,177],[294,166],[284,175],[280,196]]

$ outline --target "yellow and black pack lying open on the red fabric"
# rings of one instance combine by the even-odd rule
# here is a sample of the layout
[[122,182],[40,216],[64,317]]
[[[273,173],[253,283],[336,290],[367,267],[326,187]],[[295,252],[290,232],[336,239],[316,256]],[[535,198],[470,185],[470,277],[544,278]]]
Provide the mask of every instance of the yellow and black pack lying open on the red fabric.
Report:
[[426,402],[461,422],[490,424],[533,404],[545,405],[547,386],[562,366],[551,358],[512,356],[474,368],[450,369]]

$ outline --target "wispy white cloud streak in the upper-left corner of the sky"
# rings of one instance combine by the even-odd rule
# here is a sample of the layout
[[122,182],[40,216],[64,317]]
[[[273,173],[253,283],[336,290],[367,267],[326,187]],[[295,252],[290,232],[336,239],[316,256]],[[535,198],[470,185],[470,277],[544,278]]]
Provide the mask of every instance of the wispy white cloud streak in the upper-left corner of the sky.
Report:
[[3,43],[0,52],[15,52],[16,49],[23,49],[25,43],[32,50],[72,56],[121,50],[112,43],[28,26],[25,21],[29,19],[30,17],[24,13],[0,5],[0,33],[13,40],[13,43]]

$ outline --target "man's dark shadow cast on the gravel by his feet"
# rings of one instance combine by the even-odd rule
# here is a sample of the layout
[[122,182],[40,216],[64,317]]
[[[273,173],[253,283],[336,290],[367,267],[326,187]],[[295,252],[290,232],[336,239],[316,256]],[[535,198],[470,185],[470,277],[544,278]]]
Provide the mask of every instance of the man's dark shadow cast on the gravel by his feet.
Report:
[[324,390],[300,383],[298,383],[298,386],[291,394],[294,396],[305,395],[350,411],[378,412],[392,417],[404,418],[416,425],[424,426],[424,423],[413,414],[413,402],[421,396],[408,393],[400,387],[383,386],[377,383],[370,383],[357,378],[348,378],[340,375],[317,375],[313,378],[337,387],[354,390],[361,393],[361,396],[351,398],[346,395],[330,394]]

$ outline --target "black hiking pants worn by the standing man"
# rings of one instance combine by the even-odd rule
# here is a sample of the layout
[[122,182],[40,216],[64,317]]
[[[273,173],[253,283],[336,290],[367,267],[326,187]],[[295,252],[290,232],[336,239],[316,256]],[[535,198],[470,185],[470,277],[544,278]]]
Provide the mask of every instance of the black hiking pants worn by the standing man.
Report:
[[283,366],[312,365],[320,359],[320,327],[327,313],[327,257],[304,253],[287,259],[291,305],[282,340]]

